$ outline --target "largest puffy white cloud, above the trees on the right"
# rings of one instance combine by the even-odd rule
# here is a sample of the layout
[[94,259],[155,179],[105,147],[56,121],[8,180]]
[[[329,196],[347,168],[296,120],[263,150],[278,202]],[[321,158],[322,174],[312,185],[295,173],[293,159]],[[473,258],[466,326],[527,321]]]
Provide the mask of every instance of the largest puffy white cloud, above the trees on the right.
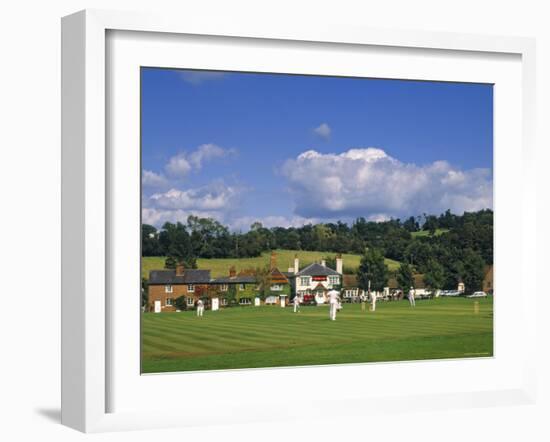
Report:
[[287,160],[282,174],[296,215],[306,218],[383,220],[493,205],[489,169],[460,170],[446,161],[404,163],[374,147],[340,154],[309,150]]

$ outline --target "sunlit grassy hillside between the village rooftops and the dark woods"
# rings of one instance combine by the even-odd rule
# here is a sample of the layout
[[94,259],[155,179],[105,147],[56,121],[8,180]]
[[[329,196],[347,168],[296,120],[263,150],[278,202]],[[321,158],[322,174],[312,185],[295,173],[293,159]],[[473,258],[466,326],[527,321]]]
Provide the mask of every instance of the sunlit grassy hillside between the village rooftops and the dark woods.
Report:
[[[294,255],[297,253],[300,258],[300,268],[311,264],[314,261],[320,261],[326,256],[333,256],[331,252],[307,252],[302,250],[276,250],[277,252],[277,266],[279,270],[286,271],[289,267],[294,265]],[[211,276],[217,278],[220,276],[226,276],[229,273],[229,268],[235,266],[237,271],[242,269],[261,267],[269,264],[270,253],[265,252],[262,256],[257,258],[228,258],[228,259],[198,259],[197,267],[199,269],[211,270]],[[343,254],[344,268],[356,269],[359,266],[361,260],[360,255]],[[144,278],[149,277],[150,270],[162,270],[164,268],[164,257],[146,256],[142,258],[141,272]],[[392,259],[386,259],[386,264],[391,271],[396,270],[399,267],[399,262]]]

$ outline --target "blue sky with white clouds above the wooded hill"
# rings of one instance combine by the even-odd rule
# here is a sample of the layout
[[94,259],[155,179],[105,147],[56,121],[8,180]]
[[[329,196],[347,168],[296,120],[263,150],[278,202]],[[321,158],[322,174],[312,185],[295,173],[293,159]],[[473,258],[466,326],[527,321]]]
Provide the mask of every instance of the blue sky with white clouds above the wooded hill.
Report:
[[492,207],[491,85],[142,68],[143,218]]

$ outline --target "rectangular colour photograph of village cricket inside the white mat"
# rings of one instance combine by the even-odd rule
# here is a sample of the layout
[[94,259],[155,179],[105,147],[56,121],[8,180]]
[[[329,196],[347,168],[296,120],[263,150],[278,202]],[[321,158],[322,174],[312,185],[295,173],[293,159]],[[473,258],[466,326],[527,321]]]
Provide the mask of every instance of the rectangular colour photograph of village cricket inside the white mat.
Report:
[[142,374],[493,357],[493,84],[140,69]]

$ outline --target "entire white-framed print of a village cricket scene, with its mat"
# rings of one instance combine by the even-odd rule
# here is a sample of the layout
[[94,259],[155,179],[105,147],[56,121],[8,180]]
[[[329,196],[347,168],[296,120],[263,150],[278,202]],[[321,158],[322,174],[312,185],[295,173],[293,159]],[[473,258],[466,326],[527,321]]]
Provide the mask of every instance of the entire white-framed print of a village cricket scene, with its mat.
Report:
[[510,177],[533,158],[533,57],[65,18],[63,422],[532,400],[534,187]]

